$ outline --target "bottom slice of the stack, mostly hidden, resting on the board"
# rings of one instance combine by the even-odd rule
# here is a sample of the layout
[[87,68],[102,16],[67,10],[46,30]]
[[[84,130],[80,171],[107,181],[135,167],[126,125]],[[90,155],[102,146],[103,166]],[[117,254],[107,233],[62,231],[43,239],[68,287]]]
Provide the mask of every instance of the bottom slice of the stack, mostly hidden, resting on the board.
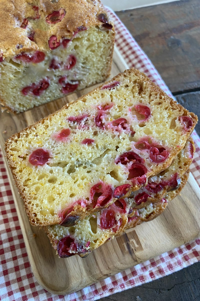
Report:
[[[190,171],[189,171],[190,172]],[[147,222],[160,215],[187,182],[189,172],[181,177],[181,185],[176,191],[170,191],[165,198],[150,203],[142,209],[131,205],[131,199],[120,199],[106,209],[87,216],[71,227],[61,225],[45,226],[52,246],[62,258],[79,255],[87,256],[107,240],[120,235],[128,228]]]

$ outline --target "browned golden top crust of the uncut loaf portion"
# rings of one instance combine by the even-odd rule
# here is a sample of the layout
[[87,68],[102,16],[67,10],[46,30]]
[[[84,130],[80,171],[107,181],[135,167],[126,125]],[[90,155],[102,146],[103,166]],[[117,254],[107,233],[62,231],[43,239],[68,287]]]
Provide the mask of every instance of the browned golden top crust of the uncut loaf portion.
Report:
[[[33,7],[38,7],[39,18]],[[65,10],[65,16],[60,22],[49,24],[46,17],[53,11]],[[0,56],[12,57],[21,52],[50,50],[48,40],[55,35],[58,40],[77,32],[84,26],[102,26],[98,20],[99,14],[106,14],[108,23],[112,20],[105,11],[100,0],[0,0]],[[26,28],[20,27],[24,19],[28,20]],[[113,23],[112,23],[113,25]],[[34,42],[28,38],[28,33],[34,31]]]

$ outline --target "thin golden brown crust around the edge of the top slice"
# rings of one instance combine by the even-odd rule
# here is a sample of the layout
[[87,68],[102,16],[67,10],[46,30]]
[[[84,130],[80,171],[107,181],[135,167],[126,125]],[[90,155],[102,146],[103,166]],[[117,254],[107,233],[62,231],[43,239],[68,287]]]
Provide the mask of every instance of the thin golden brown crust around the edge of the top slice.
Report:
[[[183,108],[180,104],[176,103],[172,98],[169,98],[169,97],[166,95],[166,93],[164,93],[157,85],[155,85],[153,82],[151,82],[145,74],[140,73],[138,70],[136,70],[136,69],[134,69],[134,68],[132,68],[132,69],[130,69],[130,70],[126,70],[124,73],[118,74],[117,76],[115,76],[115,77],[114,77],[111,81],[109,81],[109,82],[118,81],[121,77],[123,77],[123,76],[124,76],[124,77],[127,77],[127,76],[129,76],[130,74],[135,74],[135,75],[137,76],[136,81],[139,82],[140,84],[145,82],[145,84],[146,84],[148,87],[150,87],[151,91],[158,92],[159,95],[160,95],[160,97],[163,97],[163,100],[164,100],[164,101],[166,101],[166,102],[168,102],[168,103],[170,102],[170,104],[172,105],[172,107],[174,107],[175,109],[177,109],[177,110],[180,111],[180,114],[181,114],[181,115],[190,116],[190,118],[191,118],[192,121],[193,121],[193,125],[191,126],[191,128],[190,128],[187,132],[184,133],[184,141],[186,141],[187,138],[189,137],[189,135],[191,134],[191,132],[193,131],[195,125],[196,125],[196,122],[197,122],[197,120],[198,120],[198,119],[197,119],[197,116],[196,116],[194,113],[190,113],[189,111],[187,111],[187,110],[186,110],[185,108]],[[98,88],[96,88],[96,89],[100,90],[101,87],[102,87],[103,85],[107,85],[107,84],[109,84],[109,82],[103,83],[102,85],[100,85],[100,87],[98,87]],[[94,90],[92,90],[91,92],[89,92],[89,93],[88,93],[88,96],[92,95],[92,94],[96,91],[96,89],[94,89]],[[50,119],[52,116],[54,116],[54,115],[57,114],[58,112],[61,112],[62,110],[66,110],[70,105],[72,105],[73,103],[76,103],[77,101],[81,101],[81,100],[83,100],[84,98],[85,98],[85,96],[82,96],[82,97],[80,97],[79,99],[77,99],[76,101],[71,102],[71,103],[69,103],[69,104],[66,104],[63,108],[61,108],[61,109],[58,110],[57,112],[55,112],[55,113],[53,113],[53,114],[47,116],[47,117],[44,118],[44,119],[39,120],[37,123],[34,124],[34,127],[37,126],[37,125],[40,124],[40,123],[43,123],[44,120]],[[14,181],[15,181],[15,183],[16,183],[16,186],[18,187],[19,192],[20,192],[20,194],[21,194],[21,196],[22,196],[22,198],[23,198],[23,200],[24,200],[24,202],[25,202],[25,209],[26,209],[27,214],[28,214],[28,216],[29,216],[29,218],[30,218],[31,224],[32,224],[32,225],[43,225],[43,226],[44,226],[44,225],[48,225],[49,222],[46,221],[46,222],[42,222],[42,223],[41,223],[40,221],[38,221],[37,219],[35,219],[35,217],[32,215],[32,213],[31,213],[31,207],[28,206],[28,200],[27,200],[27,197],[26,197],[26,195],[25,195],[24,192],[23,192],[23,191],[24,191],[23,186],[22,186],[22,184],[20,183],[20,181],[18,181],[18,179],[16,178],[15,171],[14,171],[13,166],[12,166],[11,156],[10,156],[10,154],[9,154],[9,145],[11,144],[11,142],[12,142],[13,140],[17,140],[17,139],[20,137],[20,135],[23,135],[23,133],[24,133],[26,130],[29,130],[29,129],[31,129],[31,126],[27,127],[26,129],[23,129],[23,130],[20,131],[19,133],[13,134],[10,138],[7,139],[7,141],[5,142],[6,157],[7,157],[7,160],[8,160],[9,166],[10,166],[10,169],[11,169],[11,171],[12,171],[12,173],[13,173],[13,178],[14,178]],[[181,147],[180,147],[180,146],[178,146],[177,148],[175,147],[175,148],[171,151],[171,154],[170,154],[169,159],[166,160],[166,162],[159,164],[158,166],[154,166],[154,170],[151,171],[151,174],[149,174],[148,176],[150,176],[150,175],[155,175],[155,174],[157,174],[158,172],[161,172],[162,170],[166,169],[166,168],[172,163],[172,160],[174,159],[174,157],[178,154],[179,151],[181,151],[181,149],[182,149],[183,147],[184,147],[184,144],[182,144]],[[136,187],[135,190],[137,190],[137,189],[138,189],[138,188]],[[124,197],[127,197],[127,196],[128,196],[128,194],[125,195]],[[111,201],[111,203],[114,202],[115,200],[116,200],[116,199],[113,198],[112,201]],[[78,208],[77,208],[77,210],[78,210]],[[87,212],[87,214],[89,214],[89,213],[90,213],[90,212]],[[78,215],[79,215],[79,214],[80,214],[80,213],[78,212]],[[74,215],[77,215],[77,213],[75,212]],[[80,218],[82,219],[82,218],[84,218],[84,217],[85,217],[85,214],[82,212]],[[60,222],[61,222],[61,218],[59,218],[58,216],[55,216],[55,217],[54,217],[54,222],[53,222],[53,223],[54,223],[54,224],[59,224]]]

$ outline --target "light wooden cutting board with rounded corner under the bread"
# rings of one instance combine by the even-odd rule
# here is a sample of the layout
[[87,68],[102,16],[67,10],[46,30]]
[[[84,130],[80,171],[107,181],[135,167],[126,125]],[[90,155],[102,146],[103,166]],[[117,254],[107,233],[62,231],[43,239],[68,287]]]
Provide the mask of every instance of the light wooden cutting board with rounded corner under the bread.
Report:
[[[125,69],[128,67],[115,49],[111,77]],[[18,115],[0,113],[0,143],[3,151],[4,141],[11,134],[60,109],[67,102],[90,90],[91,88],[88,88],[73,93]],[[39,284],[51,293],[75,292],[200,236],[200,189],[190,174],[181,196],[169,203],[165,212],[157,219],[127,230],[120,237],[92,251],[86,258],[79,256],[58,258],[44,231],[29,224],[8,167],[7,171],[34,276]]]

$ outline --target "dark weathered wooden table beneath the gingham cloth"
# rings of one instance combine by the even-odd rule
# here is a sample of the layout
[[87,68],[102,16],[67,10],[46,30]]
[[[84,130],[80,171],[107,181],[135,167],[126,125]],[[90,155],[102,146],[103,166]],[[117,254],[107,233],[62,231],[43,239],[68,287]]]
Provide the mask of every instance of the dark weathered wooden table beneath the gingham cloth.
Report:
[[[171,2],[117,15],[178,102],[200,120],[200,1]],[[200,135],[200,122],[196,130]],[[100,300],[200,301],[200,262]]]

